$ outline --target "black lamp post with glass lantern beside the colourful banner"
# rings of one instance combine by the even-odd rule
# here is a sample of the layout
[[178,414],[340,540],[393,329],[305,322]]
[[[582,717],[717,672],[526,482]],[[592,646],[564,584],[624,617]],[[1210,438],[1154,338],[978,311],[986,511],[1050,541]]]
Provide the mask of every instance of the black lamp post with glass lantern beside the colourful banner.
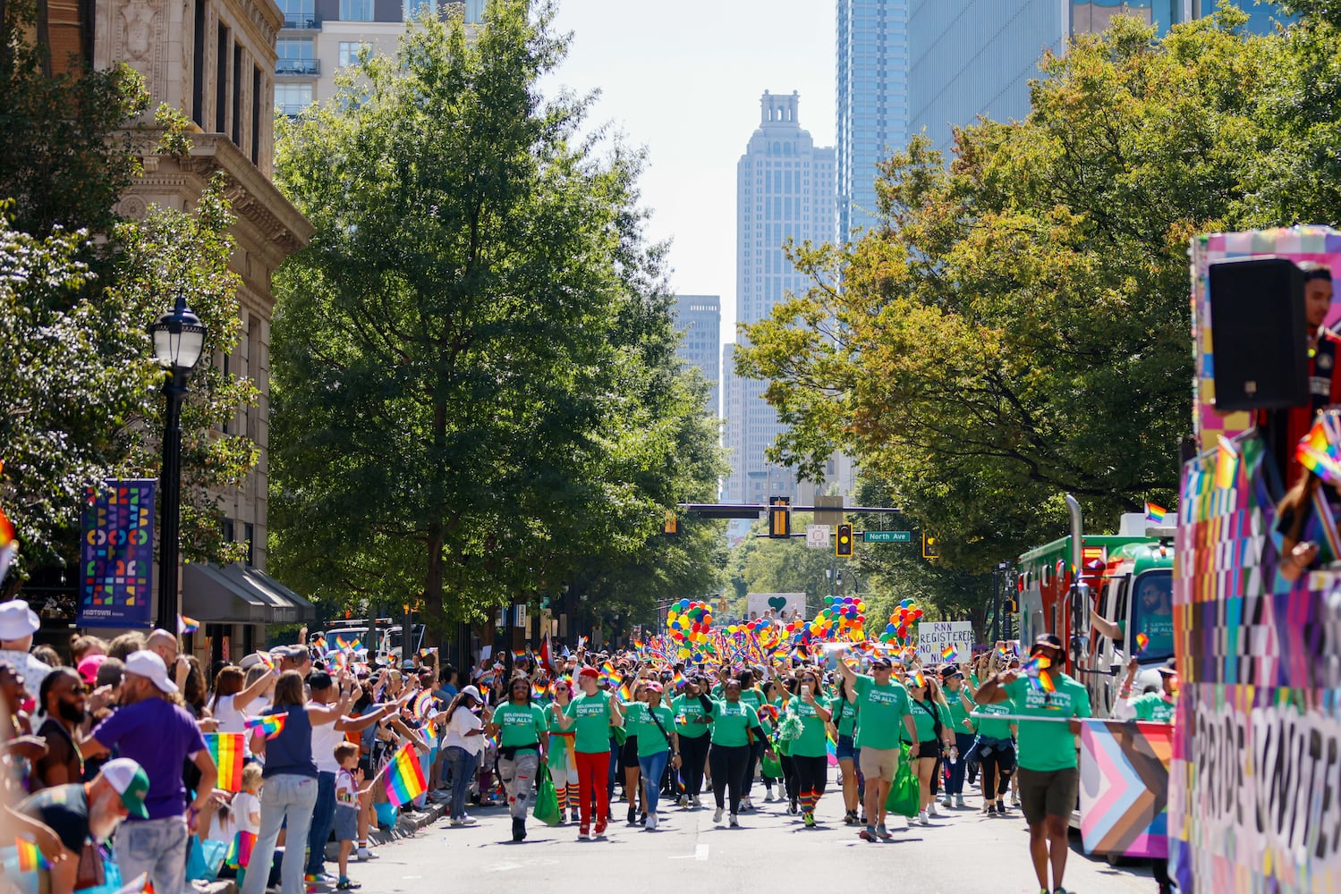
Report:
[[205,326],[177,296],[177,306],[149,327],[154,359],[170,373],[164,385],[168,413],[164,417],[164,466],[158,478],[162,531],[158,536],[158,626],[177,633],[177,555],[181,528],[181,402],[186,377],[205,347]]

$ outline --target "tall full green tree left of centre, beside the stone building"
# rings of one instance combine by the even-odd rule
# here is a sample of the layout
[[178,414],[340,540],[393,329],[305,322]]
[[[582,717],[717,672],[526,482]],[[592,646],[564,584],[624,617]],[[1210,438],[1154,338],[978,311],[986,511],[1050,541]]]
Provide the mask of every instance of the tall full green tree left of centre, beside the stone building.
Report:
[[551,20],[417,23],[282,131],[316,235],[276,277],[272,562],[319,598],[481,618],[664,548],[703,491],[641,157],[542,99]]

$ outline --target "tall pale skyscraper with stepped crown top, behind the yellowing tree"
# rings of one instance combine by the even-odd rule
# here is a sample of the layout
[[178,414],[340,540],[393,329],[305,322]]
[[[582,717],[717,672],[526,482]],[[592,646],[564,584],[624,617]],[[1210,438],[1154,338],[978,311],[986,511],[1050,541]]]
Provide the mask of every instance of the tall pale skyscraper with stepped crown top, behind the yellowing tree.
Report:
[[[834,233],[834,150],[815,147],[801,127],[801,97],[764,92],[759,127],[736,165],[736,319],[758,323],[787,292],[805,292],[809,280],[787,260],[789,239],[821,243]],[[723,353],[725,442],[732,448],[725,499],[766,503],[793,496],[793,473],[764,460],[782,432],[763,399],[764,383],[735,375],[732,348]]]

